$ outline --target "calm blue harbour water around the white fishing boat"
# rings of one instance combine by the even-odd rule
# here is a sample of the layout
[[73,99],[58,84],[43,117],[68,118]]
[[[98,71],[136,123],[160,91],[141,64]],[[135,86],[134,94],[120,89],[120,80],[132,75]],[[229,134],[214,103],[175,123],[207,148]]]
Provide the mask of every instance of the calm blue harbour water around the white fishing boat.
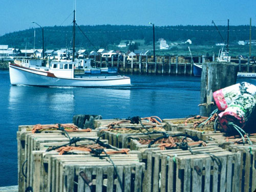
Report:
[[[75,114],[106,118],[199,114],[200,78],[130,75],[129,89],[11,86],[0,70],[0,186],[17,184],[18,125],[72,122]],[[239,80],[241,81],[241,80]],[[256,84],[254,79],[243,81]]]

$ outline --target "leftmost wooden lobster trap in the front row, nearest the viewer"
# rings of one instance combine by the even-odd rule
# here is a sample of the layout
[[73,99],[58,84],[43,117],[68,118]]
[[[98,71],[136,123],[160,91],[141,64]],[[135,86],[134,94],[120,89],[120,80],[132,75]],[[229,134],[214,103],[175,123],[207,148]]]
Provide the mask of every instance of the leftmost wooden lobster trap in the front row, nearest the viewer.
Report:
[[[108,153],[113,150],[105,151]],[[41,179],[40,182],[33,182],[33,189],[38,191],[113,191],[113,189],[121,191],[122,187],[126,189],[130,187],[128,191],[141,191],[145,165],[139,163],[136,154],[110,155],[121,178],[122,185],[120,185],[113,163],[104,154],[94,157],[86,152],[77,153],[80,155],[56,155],[54,152],[35,151],[34,158],[38,159],[36,161],[38,165],[35,166],[33,178],[36,181],[38,178]]]

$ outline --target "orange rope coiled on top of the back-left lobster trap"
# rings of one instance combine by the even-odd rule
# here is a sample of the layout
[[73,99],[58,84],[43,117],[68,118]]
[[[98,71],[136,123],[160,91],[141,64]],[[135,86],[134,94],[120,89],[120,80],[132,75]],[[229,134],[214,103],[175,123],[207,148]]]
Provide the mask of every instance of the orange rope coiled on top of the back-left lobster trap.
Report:
[[[79,130],[78,126],[74,124],[60,124],[61,127],[64,127],[65,131],[67,132],[91,132],[91,129],[86,130]],[[36,133],[37,131],[44,131],[44,130],[50,130],[50,129],[58,129],[58,124],[36,124],[33,126],[32,133]]]

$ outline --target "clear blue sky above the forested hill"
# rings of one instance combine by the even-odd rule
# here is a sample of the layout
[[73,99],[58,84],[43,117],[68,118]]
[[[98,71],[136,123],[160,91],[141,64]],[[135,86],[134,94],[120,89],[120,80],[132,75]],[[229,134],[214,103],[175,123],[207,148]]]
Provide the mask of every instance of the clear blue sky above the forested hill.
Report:
[[[73,0],[0,0],[0,35],[33,27],[59,26]],[[255,0],[76,0],[78,25],[256,25]],[[225,20],[225,21],[223,21]],[[70,16],[63,25],[70,25]]]

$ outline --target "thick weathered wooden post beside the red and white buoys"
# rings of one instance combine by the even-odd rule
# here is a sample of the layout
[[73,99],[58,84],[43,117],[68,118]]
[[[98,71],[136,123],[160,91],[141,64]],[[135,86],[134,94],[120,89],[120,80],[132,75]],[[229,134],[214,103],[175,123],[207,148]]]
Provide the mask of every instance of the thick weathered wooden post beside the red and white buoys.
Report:
[[[208,62],[203,64],[201,76],[201,103],[213,101],[212,93],[236,84],[238,64],[230,62]],[[227,76],[228,74],[228,76]],[[208,117],[216,106],[200,106],[200,115]]]

